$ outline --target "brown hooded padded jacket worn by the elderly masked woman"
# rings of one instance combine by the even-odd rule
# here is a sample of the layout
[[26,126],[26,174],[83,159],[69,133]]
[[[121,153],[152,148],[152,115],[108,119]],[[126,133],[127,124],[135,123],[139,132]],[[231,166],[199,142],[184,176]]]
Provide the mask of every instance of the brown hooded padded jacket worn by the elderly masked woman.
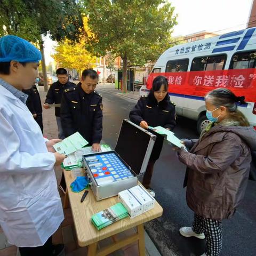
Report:
[[256,131],[223,120],[203,131],[190,152],[180,151],[187,165],[187,204],[196,214],[214,220],[230,218],[241,204],[250,172]]

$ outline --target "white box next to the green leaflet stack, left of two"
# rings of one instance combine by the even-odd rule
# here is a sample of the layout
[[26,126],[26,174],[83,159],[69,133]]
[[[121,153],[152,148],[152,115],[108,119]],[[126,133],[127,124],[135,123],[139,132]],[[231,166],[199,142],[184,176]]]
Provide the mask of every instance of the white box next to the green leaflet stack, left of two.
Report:
[[143,205],[130,193],[128,189],[119,192],[118,199],[129,212],[131,219],[143,212]]

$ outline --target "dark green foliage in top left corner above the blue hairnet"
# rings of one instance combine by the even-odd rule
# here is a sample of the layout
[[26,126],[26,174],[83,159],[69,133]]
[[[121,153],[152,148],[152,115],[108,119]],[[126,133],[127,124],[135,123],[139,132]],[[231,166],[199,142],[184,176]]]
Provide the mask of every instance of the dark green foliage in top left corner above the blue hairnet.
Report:
[[0,35],[13,34],[31,42],[50,34],[60,41],[77,41],[83,29],[75,0],[0,0]]

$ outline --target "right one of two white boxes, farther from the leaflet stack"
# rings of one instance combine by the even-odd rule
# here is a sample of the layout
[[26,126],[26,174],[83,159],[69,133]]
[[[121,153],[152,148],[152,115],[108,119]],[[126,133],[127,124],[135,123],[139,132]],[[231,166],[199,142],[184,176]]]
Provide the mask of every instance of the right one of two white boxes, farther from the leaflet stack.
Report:
[[155,198],[152,197],[145,188],[141,185],[132,187],[128,189],[134,197],[138,199],[138,201],[143,205],[143,212],[147,212],[154,208],[155,206]]

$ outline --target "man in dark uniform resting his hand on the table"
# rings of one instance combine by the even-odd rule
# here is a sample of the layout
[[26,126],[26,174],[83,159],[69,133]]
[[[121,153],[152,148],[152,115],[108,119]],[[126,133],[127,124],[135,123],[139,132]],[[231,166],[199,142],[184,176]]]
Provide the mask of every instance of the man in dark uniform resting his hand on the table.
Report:
[[[81,83],[66,89],[62,95],[60,118],[65,137],[79,132],[99,152],[102,138],[102,97],[94,89],[99,76],[95,70],[85,69]],[[62,173],[59,188],[65,193],[66,183]]]

